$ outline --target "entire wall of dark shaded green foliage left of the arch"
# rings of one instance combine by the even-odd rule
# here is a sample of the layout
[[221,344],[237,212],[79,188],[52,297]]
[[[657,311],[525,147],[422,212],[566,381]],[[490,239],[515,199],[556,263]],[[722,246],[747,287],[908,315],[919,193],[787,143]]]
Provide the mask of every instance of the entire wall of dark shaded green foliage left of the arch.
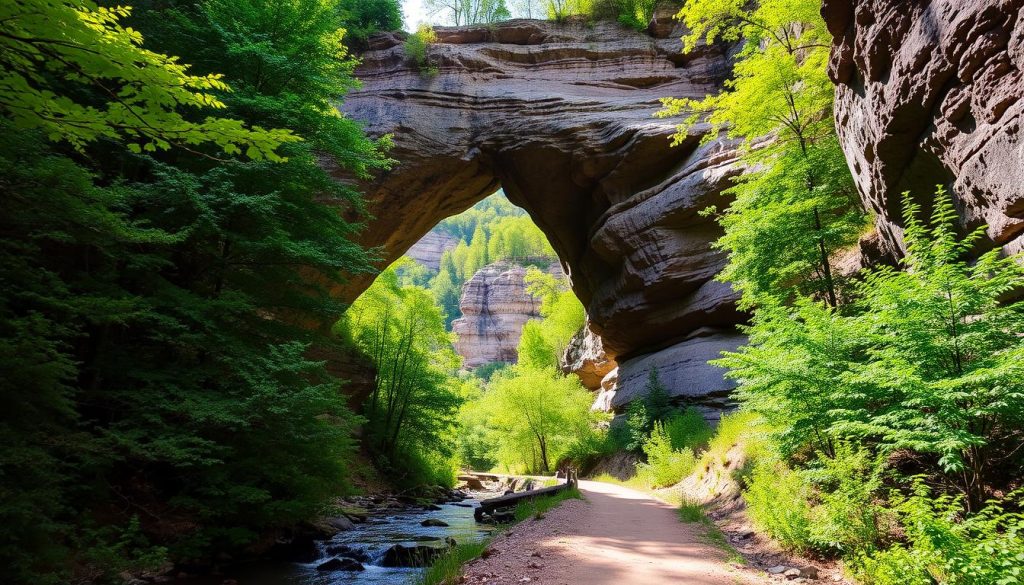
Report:
[[359,421],[309,324],[373,257],[321,161],[388,160],[335,110],[342,29],[327,0],[0,8],[8,582],[202,562],[345,490]]

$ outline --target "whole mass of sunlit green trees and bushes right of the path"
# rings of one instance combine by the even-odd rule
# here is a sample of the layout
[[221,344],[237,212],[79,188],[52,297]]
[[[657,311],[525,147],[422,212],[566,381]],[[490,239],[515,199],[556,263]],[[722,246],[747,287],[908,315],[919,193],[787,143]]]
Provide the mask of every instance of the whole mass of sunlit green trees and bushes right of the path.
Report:
[[679,17],[684,50],[738,46],[722,92],[660,115],[682,117],[677,143],[701,123],[706,140],[739,139],[751,169],[706,213],[725,232],[719,278],[754,316],[748,345],[715,362],[756,417],[740,432],[752,519],[866,583],[1020,582],[1021,259],[965,236],[940,185],[904,194],[899,265],[838,274],[869,222],[836,137],[819,3],[690,0]]

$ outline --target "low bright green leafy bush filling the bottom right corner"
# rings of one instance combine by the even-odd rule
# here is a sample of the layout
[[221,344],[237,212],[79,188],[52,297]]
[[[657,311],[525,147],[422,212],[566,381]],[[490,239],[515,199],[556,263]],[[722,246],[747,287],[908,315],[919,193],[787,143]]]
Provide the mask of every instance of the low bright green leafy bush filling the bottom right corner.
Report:
[[[1005,502],[1020,509],[1022,492]],[[1024,582],[1024,514],[989,502],[962,518],[963,498],[934,497],[922,479],[895,498],[907,542],[866,554],[858,577],[869,585],[988,585]]]

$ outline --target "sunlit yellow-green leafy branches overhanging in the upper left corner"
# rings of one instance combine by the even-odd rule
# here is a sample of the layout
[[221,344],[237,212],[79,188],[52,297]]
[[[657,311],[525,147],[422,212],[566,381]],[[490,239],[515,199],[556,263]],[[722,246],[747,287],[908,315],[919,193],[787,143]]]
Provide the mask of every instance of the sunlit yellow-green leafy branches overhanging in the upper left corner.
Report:
[[[82,150],[99,138],[135,153],[213,144],[225,154],[280,161],[298,140],[288,129],[247,127],[182,110],[223,110],[219,73],[191,75],[175,57],[142,46],[121,22],[127,6],[89,0],[12,0],[0,8],[0,109],[16,128],[39,129]],[[86,90],[83,95],[79,88]]]

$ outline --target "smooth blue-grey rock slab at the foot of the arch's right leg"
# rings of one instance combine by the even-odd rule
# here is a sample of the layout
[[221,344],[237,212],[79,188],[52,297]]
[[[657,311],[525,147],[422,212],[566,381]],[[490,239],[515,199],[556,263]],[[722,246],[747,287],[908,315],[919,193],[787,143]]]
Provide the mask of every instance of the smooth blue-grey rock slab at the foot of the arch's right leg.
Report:
[[648,372],[657,368],[674,402],[691,405],[705,418],[717,421],[732,406],[729,394],[733,384],[722,377],[723,370],[708,361],[720,358],[722,351],[735,350],[745,341],[745,336],[734,330],[706,328],[675,345],[623,362],[611,406],[617,411],[644,395]]

